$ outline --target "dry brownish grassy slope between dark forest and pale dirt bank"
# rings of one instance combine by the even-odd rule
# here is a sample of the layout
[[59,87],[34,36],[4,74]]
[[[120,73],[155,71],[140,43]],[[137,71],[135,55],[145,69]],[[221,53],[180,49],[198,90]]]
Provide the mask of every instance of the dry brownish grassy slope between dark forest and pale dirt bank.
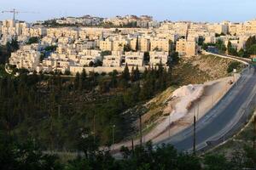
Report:
[[[156,95],[154,99],[151,99],[145,105],[137,106],[136,111],[144,113],[142,116],[143,134],[152,130],[166,116],[164,115],[164,110],[171,100],[170,96],[172,96],[174,90],[184,85],[203,84],[204,82],[217,80],[222,77],[229,77],[230,73],[227,72],[227,68],[233,62],[231,59],[221,59],[212,55],[180,59],[179,63],[172,70],[172,86]],[[134,113],[136,111],[131,112],[133,116],[137,115],[138,118],[139,114]],[[127,119],[129,118],[127,117]],[[133,117],[133,120],[135,119],[136,116]],[[138,119],[132,125],[135,133],[138,132]],[[138,137],[138,133],[134,135],[134,132],[131,131],[130,134],[131,136],[128,136],[126,139]]]

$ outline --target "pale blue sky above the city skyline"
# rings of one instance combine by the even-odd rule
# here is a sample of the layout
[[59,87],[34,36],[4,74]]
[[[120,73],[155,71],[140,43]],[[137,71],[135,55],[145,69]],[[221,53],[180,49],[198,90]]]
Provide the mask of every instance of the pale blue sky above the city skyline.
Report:
[[[92,14],[113,17],[148,14],[155,20],[244,21],[256,18],[256,0],[0,0],[0,11],[17,8],[19,20],[47,20]],[[0,13],[0,20],[12,14]]]

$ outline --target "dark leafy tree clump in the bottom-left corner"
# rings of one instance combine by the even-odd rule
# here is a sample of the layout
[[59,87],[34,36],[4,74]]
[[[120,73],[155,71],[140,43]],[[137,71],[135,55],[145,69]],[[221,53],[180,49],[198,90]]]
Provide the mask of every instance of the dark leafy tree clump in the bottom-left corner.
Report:
[[[4,139],[4,140],[3,140]],[[56,156],[43,154],[38,145],[32,141],[16,144],[13,139],[1,137],[0,142],[0,168],[13,170],[61,170]]]

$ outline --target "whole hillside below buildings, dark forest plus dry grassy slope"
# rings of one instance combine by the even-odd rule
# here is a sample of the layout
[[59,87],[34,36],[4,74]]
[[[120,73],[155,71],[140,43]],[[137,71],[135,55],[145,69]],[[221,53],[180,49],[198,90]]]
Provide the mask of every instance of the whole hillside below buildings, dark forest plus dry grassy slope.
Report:
[[44,150],[77,150],[84,133],[100,145],[112,144],[113,134],[115,143],[137,138],[139,115],[147,133],[163,116],[174,90],[228,75],[230,61],[221,60],[222,73],[212,76],[213,61],[217,65],[218,59],[211,57],[180,59],[172,71],[150,69],[140,74],[126,70],[108,76],[83,72],[74,78],[59,74],[3,77],[0,126],[20,141],[36,139]]

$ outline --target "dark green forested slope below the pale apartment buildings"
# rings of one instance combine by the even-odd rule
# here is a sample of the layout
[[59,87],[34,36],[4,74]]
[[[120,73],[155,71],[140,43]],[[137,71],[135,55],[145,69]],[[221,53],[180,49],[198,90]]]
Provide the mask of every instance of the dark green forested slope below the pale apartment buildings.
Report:
[[126,65],[121,75],[5,76],[0,78],[0,131],[20,141],[38,139],[45,150],[75,150],[80,133],[89,129],[108,145],[113,125],[115,141],[130,130],[121,113],[166,89],[169,76],[161,65],[143,74],[137,67],[130,73]]

